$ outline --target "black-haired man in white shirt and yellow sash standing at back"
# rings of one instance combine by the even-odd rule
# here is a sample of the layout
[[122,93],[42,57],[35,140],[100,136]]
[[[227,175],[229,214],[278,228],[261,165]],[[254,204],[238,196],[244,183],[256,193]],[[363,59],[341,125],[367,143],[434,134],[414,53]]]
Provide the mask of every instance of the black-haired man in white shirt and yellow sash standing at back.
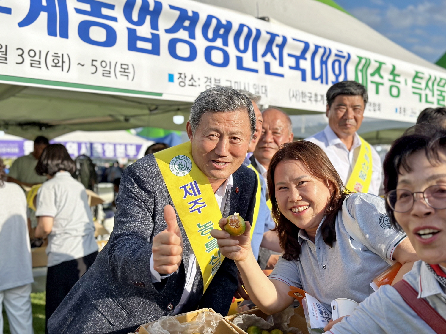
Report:
[[364,119],[367,90],[355,81],[338,82],[329,88],[326,99],[328,125],[306,140],[325,151],[347,190],[378,195],[381,159],[356,133]]

